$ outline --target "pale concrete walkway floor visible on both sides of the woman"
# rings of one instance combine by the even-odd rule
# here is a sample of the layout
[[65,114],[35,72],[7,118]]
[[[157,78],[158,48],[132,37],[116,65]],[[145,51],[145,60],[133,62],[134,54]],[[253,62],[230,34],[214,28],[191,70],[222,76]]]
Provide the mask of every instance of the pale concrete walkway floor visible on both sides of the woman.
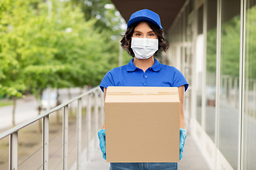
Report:
[[[92,147],[93,148],[93,147]],[[107,170],[110,169],[110,163],[102,158],[100,149],[92,149],[90,152],[91,161],[86,161],[86,152],[82,153],[81,168],[86,170]],[[76,165],[73,166],[75,169]],[[183,158],[178,163],[178,170],[210,170],[206,164],[196,143],[188,132],[183,152]]]

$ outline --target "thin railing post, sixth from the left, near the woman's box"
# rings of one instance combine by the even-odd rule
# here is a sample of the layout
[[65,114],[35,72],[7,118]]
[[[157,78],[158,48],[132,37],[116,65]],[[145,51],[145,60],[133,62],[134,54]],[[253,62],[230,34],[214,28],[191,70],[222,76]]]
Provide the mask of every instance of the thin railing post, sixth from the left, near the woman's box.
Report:
[[95,91],[95,132],[94,132],[94,137],[95,137],[95,149],[97,148],[97,131],[99,130],[99,91]]

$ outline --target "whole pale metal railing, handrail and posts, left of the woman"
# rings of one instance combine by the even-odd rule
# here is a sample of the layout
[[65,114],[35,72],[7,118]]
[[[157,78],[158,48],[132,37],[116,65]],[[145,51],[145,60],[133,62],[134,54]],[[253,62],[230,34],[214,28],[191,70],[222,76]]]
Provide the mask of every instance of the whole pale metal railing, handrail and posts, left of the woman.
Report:
[[[37,122],[38,120],[43,120],[42,123],[42,164],[41,169],[48,170],[49,169],[49,115],[58,111],[59,109],[63,108],[63,155],[62,155],[62,163],[63,163],[63,170],[68,170],[68,105],[73,101],[78,101],[78,108],[77,108],[77,128],[76,128],[76,169],[80,169],[81,164],[81,143],[82,143],[82,98],[87,96],[86,98],[86,152],[87,152],[87,161],[90,161],[90,140],[91,131],[92,131],[92,107],[94,108],[94,116],[95,116],[95,127],[93,137],[97,138],[97,130],[99,130],[99,123],[103,125],[105,120],[105,113],[104,113],[104,102],[103,98],[104,95],[100,92],[99,86],[95,87],[94,89],[90,89],[89,91],[77,96],[70,101],[60,104],[50,111],[46,113],[42,113],[41,115],[36,116],[36,118],[32,118],[31,120],[26,121],[25,123],[21,123],[14,128],[6,130],[0,134],[0,140],[4,137],[9,136],[9,169],[10,170],[17,170],[18,169],[18,130],[25,128],[32,123]],[[100,113],[99,113],[100,108]],[[100,116],[99,116],[100,114]],[[96,147],[95,140],[95,147]]]

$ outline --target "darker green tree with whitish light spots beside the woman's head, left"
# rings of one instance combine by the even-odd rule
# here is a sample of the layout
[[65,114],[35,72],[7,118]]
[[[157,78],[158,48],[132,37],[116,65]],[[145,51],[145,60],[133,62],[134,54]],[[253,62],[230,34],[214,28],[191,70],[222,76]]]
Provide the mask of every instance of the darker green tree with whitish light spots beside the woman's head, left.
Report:
[[[105,49],[110,55],[107,62],[112,65],[110,68],[117,67],[119,41],[122,38],[120,35],[124,35],[126,29],[123,28],[125,21],[119,11],[114,8],[110,0],[71,0],[70,3],[82,8],[86,21],[96,19],[94,27],[99,30],[102,38],[104,38]],[[127,63],[130,59],[131,57],[127,52],[124,52],[124,63]]]

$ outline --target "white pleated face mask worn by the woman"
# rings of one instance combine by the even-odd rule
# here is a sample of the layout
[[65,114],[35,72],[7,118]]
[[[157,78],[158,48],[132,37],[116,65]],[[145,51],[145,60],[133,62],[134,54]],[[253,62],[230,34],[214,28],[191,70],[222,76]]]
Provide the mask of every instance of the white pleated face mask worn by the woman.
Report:
[[158,39],[132,38],[131,48],[137,59],[148,59],[158,50]]

